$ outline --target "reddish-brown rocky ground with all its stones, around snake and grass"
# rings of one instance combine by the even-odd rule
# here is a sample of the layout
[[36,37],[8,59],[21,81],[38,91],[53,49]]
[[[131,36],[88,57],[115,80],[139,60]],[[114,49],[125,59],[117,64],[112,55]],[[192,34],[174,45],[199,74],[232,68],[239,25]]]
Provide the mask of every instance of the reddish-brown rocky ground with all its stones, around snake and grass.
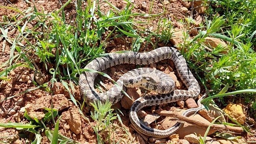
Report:
[[[11,0],[10,0],[11,1]],[[113,5],[115,5],[119,9],[123,9],[124,5],[126,5],[125,1],[122,0],[109,0]],[[9,4],[7,1],[1,1],[1,5],[6,6],[16,6],[17,8],[21,10],[27,9],[30,5],[26,3],[26,1],[17,1],[12,0],[12,4]],[[61,1],[63,4],[66,2]],[[174,37],[170,39],[170,43],[172,45],[177,45],[179,43],[182,43],[182,30],[185,30],[188,28],[188,26],[183,25],[179,23],[177,20],[184,19],[185,17],[190,15],[190,3],[182,0],[164,0],[164,1],[153,1],[153,9],[148,9],[148,6],[150,5],[149,1],[146,0],[133,0],[132,3],[135,4],[134,12],[136,13],[151,13],[151,14],[158,14],[160,12],[163,12],[163,8],[168,11],[167,14],[165,14],[166,17],[170,18],[173,21],[174,27]],[[45,12],[52,12],[53,10],[56,10],[60,8],[59,1],[55,0],[36,0],[35,5],[37,6],[38,10],[44,10]],[[110,7],[107,3],[100,1],[101,10],[102,12],[107,12]],[[199,23],[202,22],[202,14],[204,13],[205,7],[200,6],[200,1],[195,1],[194,7],[196,8],[196,14],[195,14],[195,25],[194,27],[199,26]],[[10,9],[0,9],[0,16],[3,15],[13,15],[15,13],[14,10]],[[74,3],[71,3],[65,9],[65,13],[67,15],[74,15],[75,14],[75,8]],[[145,20],[145,19],[144,19]],[[142,20],[143,21],[143,20]],[[145,20],[146,21],[146,20]],[[2,19],[0,20],[2,22]],[[147,26],[151,30],[157,29],[157,22],[158,21],[152,21]],[[33,26],[33,25],[31,25]],[[191,27],[190,27],[191,28]],[[8,33],[9,37],[15,38],[17,35],[17,31],[13,31]],[[191,30],[190,35],[195,36],[197,34],[197,29]],[[106,48],[106,52],[114,52],[114,51],[120,51],[120,50],[129,50],[131,49],[131,41],[132,39],[129,38],[117,38],[114,39],[114,42],[110,41],[108,47]],[[154,43],[154,39],[152,39]],[[206,44],[210,44],[213,47],[218,45],[219,43],[226,45],[224,42],[222,42],[219,39],[215,38],[208,38],[208,41]],[[3,45],[3,39],[0,39],[0,49],[2,49]],[[0,65],[3,64],[5,61],[9,60],[9,53],[10,48],[12,45],[7,44],[4,51],[1,53],[0,57]],[[164,46],[162,43],[158,44],[159,47]],[[152,48],[146,47],[146,45],[142,45],[140,51],[150,51]],[[39,61],[36,61],[37,64],[40,64]],[[120,65],[111,67],[110,69],[105,70],[104,72],[110,75],[114,80],[117,80],[120,75],[126,73],[127,71],[134,69],[135,65]],[[176,73],[176,69],[174,67],[173,62],[169,61],[161,61],[157,64],[148,65],[146,67],[151,67],[153,69],[158,69],[166,74],[170,75],[176,83],[177,89],[186,89],[182,81],[179,79]],[[35,73],[35,71],[32,71],[29,68],[26,67],[18,67],[13,71],[10,71],[10,74],[8,75],[8,78],[10,78],[9,81],[2,80],[0,82],[0,99],[2,100],[0,102],[0,123],[7,123],[7,122],[21,122],[26,123],[27,119],[24,117],[25,110],[28,112],[28,114],[33,117],[36,116],[38,119],[42,119],[45,114],[43,113],[44,108],[51,108],[51,105],[53,105],[53,108],[58,110],[59,115],[63,115],[60,121],[60,127],[59,132],[60,134],[63,134],[67,136],[68,138],[71,138],[77,142],[80,143],[96,143],[96,135],[92,129],[92,125],[94,125],[94,121],[91,119],[90,114],[88,113],[88,109],[84,110],[84,115],[86,118],[82,117],[78,108],[70,101],[69,91],[65,89],[63,84],[57,82],[54,83],[53,87],[51,88],[52,93],[47,92],[45,88],[40,88],[37,90],[24,92],[25,90],[35,88],[35,85],[33,84],[32,79],[36,80],[38,83],[45,83],[50,81],[51,75],[46,71],[46,69],[41,66],[39,67],[43,75],[40,75],[38,73]],[[0,67],[0,71],[4,70],[4,67]],[[106,88],[110,88],[113,83],[104,78],[99,77],[102,79],[102,82],[105,84]],[[70,83],[70,82],[68,82]],[[48,84],[48,87],[51,87],[51,83]],[[203,88],[202,88],[203,90]],[[73,92],[73,95],[75,96],[75,99],[77,101],[82,102],[80,92],[79,92],[79,86],[74,86],[74,89],[71,90]],[[202,91],[203,93],[204,91]],[[143,90],[140,90],[139,88],[129,88],[127,90],[127,93],[129,96],[132,97],[133,100],[136,100],[138,97],[143,96],[145,94],[154,94],[154,93],[146,93]],[[14,96],[14,97],[12,97]],[[7,100],[8,97],[12,97]],[[176,134],[170,136],[166,139],[155,139],[150,138],[148,136],[144,136],[142,134],[138,134],[133,128],[131,123],[129,122],[129,108],[132,105],[133,100],[129,99],[128,97],[124,97],[120,102],[115,104],[113,106],[116,108],[119,108],[121,112],[124,115],[121,115],[121,119],[123,124],[120,124],[118,121],[115,121],[116,125],[119,125],[123,128],[118,128],[114,131],[113,137],[115,137],[115,140],[121,140],[121,143],[180,143],[180,144],[188,144],[190,143],[197,143],[197,136],[201,135],[203,136],[206,128],[205,127],[199,127],[191,124],[185,123],[184,127],[181,128]],[[239,103],[239,102],[238,102]],[[173,107],[175,106],[175,107]],[[175,113],[182,113],[184,109],[187,108],[193,108],[196,106],[195,101],[187,100],[185,102],[179,101],[176,104],[166,104],[161,106],[154,106],[152,108],[145,108],[141,110],[138,115],[144,119],[144,122],[150,124],[151,127],[156,127],[159,129],[166,129],[168,127],[171,127],[175,124],[174,121],[170,121],[170,117],[159,117],[158,114],[154,113],[155,110],[161,108],[163,110],[169,110],[174,111]],[[214,108],[213,106],[210,106],[210,113],[214,116],[221,115],[221,111]],[[240,124],[244,124],[246,120],[246,115],[244,114],[243,105],[240,104],[229,104],[226,109],[226,113],[229,113],[231,117],[236,119]],[[204,113],[204,112],[202,112]],[[202,114],[204,115],[204,114]],[[212,115],[210,117],[212,117]],[[210,124],[210,120],[206,120],[205,117],[202,117],[199,114],[195,114],[190,116],[193,119],[197,119],[198,121],[206,124]],[[155,119],[158,118],[157,121]],[[90,122],[88,122],[88,119]],[[225,122],[226,118],[221,117],[219,118],[220,121]],[[53,129],[54,124],[49,123],[47,124],[47,127]],[[127,130],[127,132],[125,132]],[[225,130],[224,130],[225,131]],[[239,131],[239,130],[238,130]],[[216,132],[216,130],[210,130],[209,135]],[[255,130],[251,131],[255,134]],[[194,135],[194,133],[197,134]],[[239,132],[238,132],[239,133]],[[29,135],[28,138],[33,139],[34,135],[32,133],[19,131],[14,128],[0,128],[0,139],[4,136],[8,136],[7,138],[3,138],[3,141],[7,141],[8,143],[26,143],[26,140],[20,137],[20,134],[26,134]],[[41,134],[43,136],[42,143],[50,143],[50,141],[46,138],[44,133]],[[209,136],[206,137],[207,143],[220,143],[220,144],[234,144],[234,143],[242,143],[244,141],[253,141],[255,140],[255,137],[252,137],[250,135],[247,135],[243,133],[242,138],[234,139],[234,140],[225,140],[216,138],[215,136]],[[189,142],[188,142],[189,141]]]

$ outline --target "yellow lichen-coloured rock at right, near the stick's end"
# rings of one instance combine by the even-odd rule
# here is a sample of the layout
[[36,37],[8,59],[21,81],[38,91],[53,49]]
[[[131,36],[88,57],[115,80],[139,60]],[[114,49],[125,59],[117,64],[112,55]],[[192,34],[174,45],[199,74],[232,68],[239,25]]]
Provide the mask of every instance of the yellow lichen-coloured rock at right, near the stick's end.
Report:
[[242,104],[228,104],[223,111],[241,125],[244,124],[246,115],[243,113]]

